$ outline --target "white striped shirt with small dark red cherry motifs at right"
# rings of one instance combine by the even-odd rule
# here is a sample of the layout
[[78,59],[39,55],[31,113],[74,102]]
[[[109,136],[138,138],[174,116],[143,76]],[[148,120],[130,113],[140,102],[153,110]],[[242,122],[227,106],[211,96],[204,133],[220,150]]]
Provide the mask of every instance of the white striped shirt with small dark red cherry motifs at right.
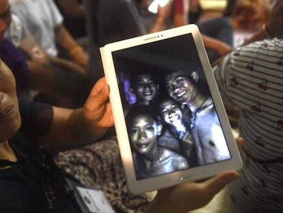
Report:
[[222,97],[240,108],[240,178],[228,186],[237,212],[283,210],[283,40],[239,47],[215,68]]

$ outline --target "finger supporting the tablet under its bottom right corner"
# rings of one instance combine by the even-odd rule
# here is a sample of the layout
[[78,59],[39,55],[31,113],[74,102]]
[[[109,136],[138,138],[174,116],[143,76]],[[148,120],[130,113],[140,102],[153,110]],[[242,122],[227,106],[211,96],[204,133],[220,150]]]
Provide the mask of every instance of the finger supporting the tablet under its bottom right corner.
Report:
[[223,189],[226,184],[229,184],[238,177],[239,173],[237,173],[237,171],[224,171],[219,173],[219,175],[202,182],[201,184],[204,190],[206,190],[207,195],[214,197],[214,195]]

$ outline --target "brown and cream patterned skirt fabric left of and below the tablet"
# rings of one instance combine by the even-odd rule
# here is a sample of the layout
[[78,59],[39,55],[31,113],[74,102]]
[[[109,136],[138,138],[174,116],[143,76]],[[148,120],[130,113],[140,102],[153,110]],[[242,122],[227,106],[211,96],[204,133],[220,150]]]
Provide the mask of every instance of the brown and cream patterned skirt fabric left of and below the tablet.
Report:
[[85,186],[103,190],[116,212],[146,212],[150,198],[129,192],[116,139],[59,153],[55,161]]

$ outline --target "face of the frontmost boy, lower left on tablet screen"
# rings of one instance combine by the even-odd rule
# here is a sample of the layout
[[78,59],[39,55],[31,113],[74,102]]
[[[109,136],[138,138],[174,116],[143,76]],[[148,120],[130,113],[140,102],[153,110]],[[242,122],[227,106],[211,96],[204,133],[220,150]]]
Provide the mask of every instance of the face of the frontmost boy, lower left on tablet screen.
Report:
[[131,145],[137,153],[148,153],[157,141],[157,123],[147,115],[137,115],[131,121],[129,131]]

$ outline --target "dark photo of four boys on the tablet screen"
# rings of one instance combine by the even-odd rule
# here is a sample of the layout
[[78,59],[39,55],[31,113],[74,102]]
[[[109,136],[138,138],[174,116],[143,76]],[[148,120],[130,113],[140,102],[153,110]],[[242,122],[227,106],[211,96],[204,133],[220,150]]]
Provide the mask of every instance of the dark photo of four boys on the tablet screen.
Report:
[[137,179],[230,159],[191,34],[112,54]]

